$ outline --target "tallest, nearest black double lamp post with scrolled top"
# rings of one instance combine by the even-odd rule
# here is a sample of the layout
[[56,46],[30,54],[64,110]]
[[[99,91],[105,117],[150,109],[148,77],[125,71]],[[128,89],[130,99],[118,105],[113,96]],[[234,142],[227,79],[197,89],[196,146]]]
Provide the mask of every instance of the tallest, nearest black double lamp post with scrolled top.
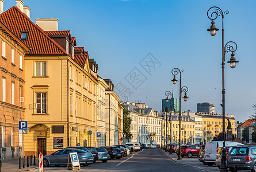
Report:
[[[213,12],[209,12],[210,10],[213,10]],[[207,11],[207,16],[209,19],[212,20],[211,24],[211,28],[207,29],[211,36],[215,36],[216,31],[219,30],[216,28],[216,26],[214,25],[215,22],[214,20],[218,17],[221,16],[222,18],[222,62],[221,62],[221,67],[222,67],[222,131],[223,131],[223,149],[222,149],[222,155],[221,155],[221,166],[220,166],[220,171],[226,171],[226,148],[225,148],[225,140],[226,140],[226,136],[225,136],[225,85],[224,85],[224,68],[225,68],[225,60],[226,60],[226,53],[227,52],[232,52],[231,53],[231,58],[230,61],[227,61],[228,63],[230,63],[230,67],[231,68],[235,68],[236,66],[236,61],[235,59],[235,54],[234,52],[237,49],[237,45],[235,44],[235,42],[233,41],[229,41],[227,42],[226,45],[224,45],[224,15],[230,13],[229,11],[223,11],[217,7],[217,6],[213,6],[211,7],[208,11]],[[209,15],[211,14],[211,15]],[[232,46],[233,45],[233,46]]]

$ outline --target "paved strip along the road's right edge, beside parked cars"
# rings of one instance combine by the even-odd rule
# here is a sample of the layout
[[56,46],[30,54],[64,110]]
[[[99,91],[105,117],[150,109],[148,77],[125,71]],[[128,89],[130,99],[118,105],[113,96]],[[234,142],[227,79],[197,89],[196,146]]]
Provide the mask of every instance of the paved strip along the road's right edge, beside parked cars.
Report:
[[169,151],[166,152],[165,150],[162,150],[168,157],[170,157],[170,159],[172,161],[175,161],[175,162],[178,162],[178,163],[181,163],[183,165],[188,165],[188,166],[191,166],[191,167],[195,167],[197,169],[200,169],[200,170],[204,170],[204,171],[219,171],[219,168],[216,166],[216,165],[213,165],[212,167],[209,167],[207,165],[204,165],[202,162],[198,161],[198,158],[197,157],[193,157],[193,158],[187,158],[187,157],[184,157],[182,158],[182,160],[177,160],[178,158],[178,155],[176,153],[173,153],[173,154],[169,154]]

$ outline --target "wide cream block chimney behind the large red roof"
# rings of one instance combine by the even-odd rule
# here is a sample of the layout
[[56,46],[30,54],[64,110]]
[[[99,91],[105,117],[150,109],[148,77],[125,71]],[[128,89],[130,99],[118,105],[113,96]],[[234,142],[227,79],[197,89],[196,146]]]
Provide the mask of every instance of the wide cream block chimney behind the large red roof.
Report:
[[39,25],[44,31],[58,31],[57,18],[37,18],[36,25]]

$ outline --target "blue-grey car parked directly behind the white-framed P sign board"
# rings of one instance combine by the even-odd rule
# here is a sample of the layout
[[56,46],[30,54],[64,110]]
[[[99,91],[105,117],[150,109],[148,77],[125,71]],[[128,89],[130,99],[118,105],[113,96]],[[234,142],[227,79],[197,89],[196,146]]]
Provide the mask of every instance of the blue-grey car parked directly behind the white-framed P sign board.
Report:
[[55,151],[51,155],[44,156],[44,167],[48,167],[49,165],[67,165],[69,153],[77,153],[79,162],[83,166],[87,166],[94,161],[93,155],[87,151],[78,148],[63,148]]

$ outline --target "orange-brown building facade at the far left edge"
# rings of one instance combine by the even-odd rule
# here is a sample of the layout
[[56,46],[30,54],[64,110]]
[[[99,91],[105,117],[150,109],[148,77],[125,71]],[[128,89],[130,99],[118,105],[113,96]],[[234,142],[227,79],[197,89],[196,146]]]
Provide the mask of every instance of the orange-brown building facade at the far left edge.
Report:
[[0,21],[0,116],[1,158],[22,156],[22,134],[18,123],[24,120],[24,55],[29,51],[20,38]]

